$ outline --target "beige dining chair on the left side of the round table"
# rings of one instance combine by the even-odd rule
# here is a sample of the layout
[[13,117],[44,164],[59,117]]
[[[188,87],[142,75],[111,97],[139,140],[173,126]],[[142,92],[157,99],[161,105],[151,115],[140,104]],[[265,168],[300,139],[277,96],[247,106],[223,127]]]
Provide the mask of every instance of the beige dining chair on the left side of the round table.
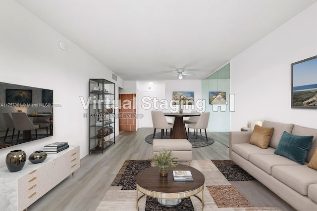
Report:
[[151,111],[151,115],[152,115],[152,122],[154,127],[153,138],[155,136],[155,132],[157,129],[161,129],[161,138],[163,138],[164,129],[166,129],[166,135],[167,135],[167,129],[170,129],[170,134],[172,134],[173,124],[167,123],[167,120],[162,111]]

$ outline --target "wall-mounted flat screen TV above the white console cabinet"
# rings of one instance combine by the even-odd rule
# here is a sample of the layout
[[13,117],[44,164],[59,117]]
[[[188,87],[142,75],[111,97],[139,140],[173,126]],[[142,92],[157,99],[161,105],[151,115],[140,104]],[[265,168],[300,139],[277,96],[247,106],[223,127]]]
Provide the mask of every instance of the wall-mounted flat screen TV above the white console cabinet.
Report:
[[[18,131],[12,113],[25,113],[37,131]],[[37,134],[36,134],[37,133]],[[0,149],[53,135],[53,90],[0,82]]]

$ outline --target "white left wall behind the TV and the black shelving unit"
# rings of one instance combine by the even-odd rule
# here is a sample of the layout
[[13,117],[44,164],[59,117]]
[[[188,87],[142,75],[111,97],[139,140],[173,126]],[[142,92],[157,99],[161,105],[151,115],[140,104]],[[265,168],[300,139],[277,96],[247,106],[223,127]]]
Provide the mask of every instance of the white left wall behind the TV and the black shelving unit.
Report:
[[[89,153],[89,121],[79,97],[88,98],[90,78],[112,80],[112,72],[15,1],[0,1],[0,26],[0,81],[53,89],[53,102],[61,104],[53,110],[54,135],[0,149],[0,167],[11,150],[30,155],[55,141],[80,145],[83,158]],[[66,50],[59,41],[66,42]],[[116,93],[122,82],[118,77]]]

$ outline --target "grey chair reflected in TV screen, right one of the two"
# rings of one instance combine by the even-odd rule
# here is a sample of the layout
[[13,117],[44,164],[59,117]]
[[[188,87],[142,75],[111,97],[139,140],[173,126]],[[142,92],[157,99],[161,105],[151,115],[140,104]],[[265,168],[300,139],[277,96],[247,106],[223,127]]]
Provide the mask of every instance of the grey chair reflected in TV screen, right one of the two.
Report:
[[38,125],[34,125],[30,118],[24,112],[12,113],[12,120],[16,130],[18,130],[18,137],[16,143],[19,141],[20,131],[35,129],[35,135],[38,137],[37,129]]

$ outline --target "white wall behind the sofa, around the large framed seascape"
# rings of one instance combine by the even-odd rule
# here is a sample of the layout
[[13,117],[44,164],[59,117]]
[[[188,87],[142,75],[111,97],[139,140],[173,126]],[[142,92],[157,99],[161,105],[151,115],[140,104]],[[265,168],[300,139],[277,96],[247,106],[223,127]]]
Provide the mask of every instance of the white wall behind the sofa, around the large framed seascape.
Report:
[[291,109],[290,84],[290,64],[317,55],[316,26],[314,3],[231,59],[232,131],[254,119],[317,127],[317,110]]

